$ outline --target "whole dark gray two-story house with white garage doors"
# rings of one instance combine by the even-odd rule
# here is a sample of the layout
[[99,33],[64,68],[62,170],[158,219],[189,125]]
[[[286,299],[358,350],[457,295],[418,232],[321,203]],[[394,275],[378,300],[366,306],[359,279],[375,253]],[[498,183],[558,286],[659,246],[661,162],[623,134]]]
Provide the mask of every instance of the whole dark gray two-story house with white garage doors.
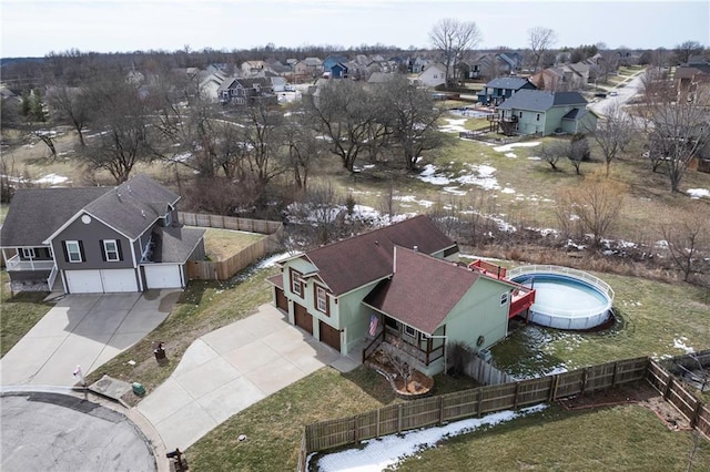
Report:
[[187,260],[204,259],[204,229],[182,227],[179,199],[145,175],[118,187],[19,188],[0,233],[12,290],[185,287]]

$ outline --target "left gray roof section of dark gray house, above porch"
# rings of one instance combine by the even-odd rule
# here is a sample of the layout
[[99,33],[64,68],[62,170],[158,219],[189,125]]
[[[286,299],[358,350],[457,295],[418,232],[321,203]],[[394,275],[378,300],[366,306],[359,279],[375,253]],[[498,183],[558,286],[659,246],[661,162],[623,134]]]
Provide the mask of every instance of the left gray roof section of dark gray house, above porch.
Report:
[[42,246],[84,205],[110,191],[110,187],[18,188],[0,232],[0,244]]

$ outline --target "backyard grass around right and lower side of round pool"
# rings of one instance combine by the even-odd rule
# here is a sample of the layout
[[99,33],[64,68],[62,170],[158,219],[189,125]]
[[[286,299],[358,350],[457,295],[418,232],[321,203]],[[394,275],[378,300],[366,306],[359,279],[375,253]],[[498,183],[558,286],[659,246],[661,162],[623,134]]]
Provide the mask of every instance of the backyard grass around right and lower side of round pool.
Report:
[[495,363],[514,374],[529,376],[565,367],[640,356],[710,349],[710,294],[687,284],[665,284],[639,277],[595,274],[616,291],[617,324],[597,332],[571,332],[526,326],[491,349]]

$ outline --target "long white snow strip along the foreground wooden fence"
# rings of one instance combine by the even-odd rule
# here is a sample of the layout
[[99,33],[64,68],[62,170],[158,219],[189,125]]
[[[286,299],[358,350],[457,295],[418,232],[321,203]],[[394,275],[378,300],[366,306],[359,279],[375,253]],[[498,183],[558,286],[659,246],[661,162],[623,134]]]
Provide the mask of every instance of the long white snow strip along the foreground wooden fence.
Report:
[[[379,472],[396,465],[400,460],[414,455],[418,451],[436,448],[436,444],[444,439],[476,431],[484,427],[494,427],[516,418],[540,412],[546,408],[546,404],[536,404],[519,411],[499,411],[483,418],[456,421],[444,427],[416,430],[403,434],[390,434],[364,441],[365,447],[362,449],[348,449],[321,456],[317,461],[317,466],[320,471],[324,472]],[[308,462],[310,460],[311,456]]]

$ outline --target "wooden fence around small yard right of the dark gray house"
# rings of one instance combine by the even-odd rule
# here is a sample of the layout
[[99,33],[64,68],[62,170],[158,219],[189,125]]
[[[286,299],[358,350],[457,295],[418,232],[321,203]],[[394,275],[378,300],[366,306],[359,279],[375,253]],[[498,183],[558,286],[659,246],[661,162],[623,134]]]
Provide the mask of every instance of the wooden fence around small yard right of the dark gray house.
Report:
[[234,229],[267,235],[264,239],[253,243],[225,260],[187,261],[187,273],[191,280],[227,280],[254,260],[264,257],[278,247],[284,230],[281,222],[183,212],[180,212],[180,222],[187,226]]

